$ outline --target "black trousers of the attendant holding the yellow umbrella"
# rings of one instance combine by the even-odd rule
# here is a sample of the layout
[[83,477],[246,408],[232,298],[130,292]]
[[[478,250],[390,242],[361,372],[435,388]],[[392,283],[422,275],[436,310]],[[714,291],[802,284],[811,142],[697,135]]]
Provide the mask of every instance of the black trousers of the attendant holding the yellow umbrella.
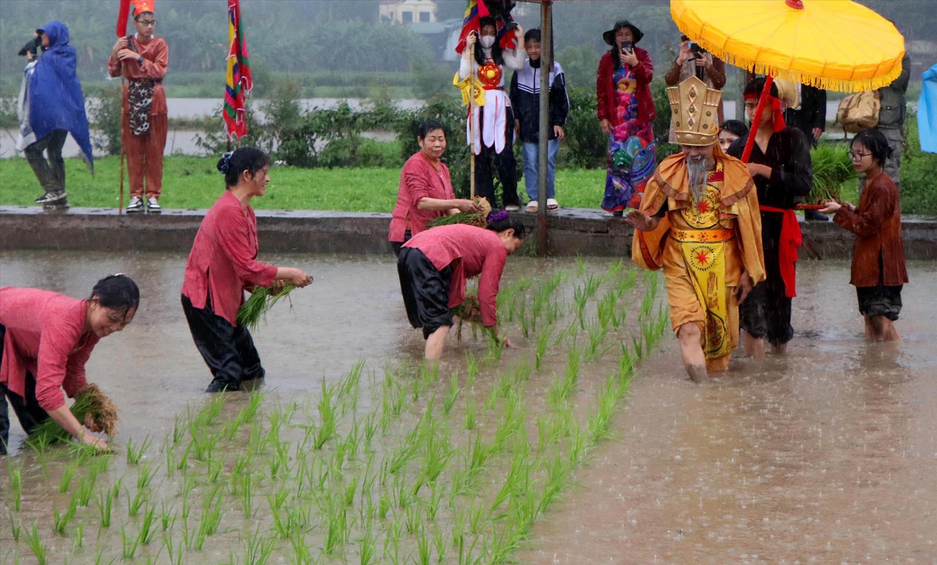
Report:
[[779,346],[791,341],[794,326],[777,249],[765,249],[765,274],[765,280],[738,305],[738,325],[752,337],[766,337],[769,344]]

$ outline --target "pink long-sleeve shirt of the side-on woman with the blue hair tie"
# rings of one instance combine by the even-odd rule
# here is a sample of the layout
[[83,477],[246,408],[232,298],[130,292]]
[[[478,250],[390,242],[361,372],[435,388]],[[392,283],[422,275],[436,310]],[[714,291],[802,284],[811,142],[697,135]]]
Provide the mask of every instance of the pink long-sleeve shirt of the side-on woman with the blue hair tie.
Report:
[[242,207],[231,190],[225,190],[201,220],[186,261],[182,293],[196,308],[204,308],[211,296],[216,315],[237,325],[245,288],[269,287],[276,276],[276,267],[257,260],[257,251],[254,210]]

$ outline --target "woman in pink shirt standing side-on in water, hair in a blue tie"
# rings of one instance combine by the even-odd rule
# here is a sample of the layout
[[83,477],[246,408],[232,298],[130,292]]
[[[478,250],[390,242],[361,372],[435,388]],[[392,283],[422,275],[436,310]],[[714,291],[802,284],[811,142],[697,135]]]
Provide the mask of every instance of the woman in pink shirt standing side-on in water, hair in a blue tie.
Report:
[[250,199],[263,196],[270,182],[270,156],[241,147],[222,156],[217,168],[225,175],[226,190],[201,220],[182,286],[192,339],[212,371],[208,393],[236,391],[264,375],[250,332],[237,320],[244,291],[303,288],[312,282],[300,269],[257,260],[257,217]]

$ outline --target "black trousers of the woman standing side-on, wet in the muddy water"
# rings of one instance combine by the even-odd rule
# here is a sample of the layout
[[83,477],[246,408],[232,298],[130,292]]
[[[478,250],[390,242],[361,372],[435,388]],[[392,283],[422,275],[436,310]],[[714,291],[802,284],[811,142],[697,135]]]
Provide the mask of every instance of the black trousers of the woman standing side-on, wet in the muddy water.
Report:
[[212,371],[208,392],[236,391],[245,380],[263,377],[260,355],[247,328],[232,326],[228,320],[217,316],[211,299],[205,300],[204,308],[196,308],[183,294],[182,309],[195,347]]

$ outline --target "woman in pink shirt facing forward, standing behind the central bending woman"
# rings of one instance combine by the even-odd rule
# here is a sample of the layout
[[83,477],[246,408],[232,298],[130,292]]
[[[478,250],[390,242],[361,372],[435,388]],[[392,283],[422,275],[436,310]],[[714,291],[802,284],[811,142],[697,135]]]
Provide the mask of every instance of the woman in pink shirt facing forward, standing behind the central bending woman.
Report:
[[400,188],[388,238],[394,255],[409,238],[426,229],[433,218],[459,212],[477,212],[478,205],[456,199],[449,168],[440,161],[446,151],[446,132],[439,122],[427,120],[416,138],[420,151],[407,159],[400,171]]

